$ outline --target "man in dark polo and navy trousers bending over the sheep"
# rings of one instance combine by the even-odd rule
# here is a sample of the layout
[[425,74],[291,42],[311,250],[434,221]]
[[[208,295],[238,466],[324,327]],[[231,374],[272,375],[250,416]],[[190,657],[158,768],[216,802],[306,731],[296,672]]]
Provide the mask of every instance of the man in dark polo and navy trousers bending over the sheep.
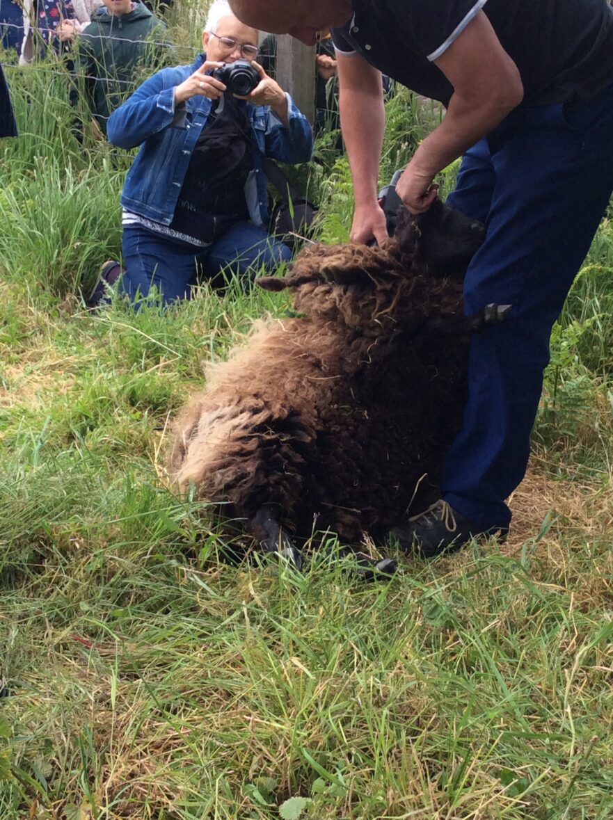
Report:
[[[387,239],[377,203],[380,71],[446,106],[397,186],[414,213],[464,153],[450,203],[487,225],[467,312],[513,305],[473,335],[469,401],[441,500],[396,529],[434,554],[505,532],[549,361],[551,326],[613,189],[613,15],[606,0],[232,0],[237,16],[313,45],[336,27],[341,124],[355,187],[352,239]],[[368,119],[364,117],[368,112]]]

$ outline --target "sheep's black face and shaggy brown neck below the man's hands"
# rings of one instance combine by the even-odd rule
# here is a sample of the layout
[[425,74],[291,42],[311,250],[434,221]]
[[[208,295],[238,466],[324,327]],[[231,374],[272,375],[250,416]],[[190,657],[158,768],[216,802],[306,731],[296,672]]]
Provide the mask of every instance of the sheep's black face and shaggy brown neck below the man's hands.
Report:
[[458,312],[464,272],[484,235],[480,222],[438,200],[418,216],[403,206],[385,248],[311,245],[285,278],[257,281],[293,290],[300,312],[380,337]]

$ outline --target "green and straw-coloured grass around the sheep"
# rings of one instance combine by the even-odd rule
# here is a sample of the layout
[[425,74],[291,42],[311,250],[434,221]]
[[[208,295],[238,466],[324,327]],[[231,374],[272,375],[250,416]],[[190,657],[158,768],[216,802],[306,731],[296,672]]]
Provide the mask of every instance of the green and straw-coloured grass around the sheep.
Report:
[[[10,69],[25,137],[0,144],[0,818],[611,817],[611,223],[556,326],[507,544],[381,586],[333,539],[304,575],[227,566],[167,480],[169,426],[286,299],[85,312],[129,157],[66,136],[45,70]],[[384,179],[419,137],[403,106]],[[345,239],[345,159],[309,173]]]

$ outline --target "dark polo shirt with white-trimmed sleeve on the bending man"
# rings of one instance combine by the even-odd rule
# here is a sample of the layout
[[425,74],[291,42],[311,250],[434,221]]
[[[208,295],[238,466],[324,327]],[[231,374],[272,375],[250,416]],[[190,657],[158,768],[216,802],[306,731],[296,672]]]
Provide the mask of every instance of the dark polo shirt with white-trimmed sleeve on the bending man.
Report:
[[607,0],[354,0],[332,30],[337,51],[424,96],[449,103],[435,60],[483,10],[524,82],[527,105],[591,98],[613,83],[613,11]]

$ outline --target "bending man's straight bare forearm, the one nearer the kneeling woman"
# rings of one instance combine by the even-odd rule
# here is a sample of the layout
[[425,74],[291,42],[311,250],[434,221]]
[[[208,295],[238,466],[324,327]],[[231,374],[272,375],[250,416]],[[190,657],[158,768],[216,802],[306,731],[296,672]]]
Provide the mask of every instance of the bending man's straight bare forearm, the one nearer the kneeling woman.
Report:
[[385,216],[377,203],[379,160],[385,131],[381,73],[358,54],[337,52],[341,129],[354,180],[353,242],[387,239]]

